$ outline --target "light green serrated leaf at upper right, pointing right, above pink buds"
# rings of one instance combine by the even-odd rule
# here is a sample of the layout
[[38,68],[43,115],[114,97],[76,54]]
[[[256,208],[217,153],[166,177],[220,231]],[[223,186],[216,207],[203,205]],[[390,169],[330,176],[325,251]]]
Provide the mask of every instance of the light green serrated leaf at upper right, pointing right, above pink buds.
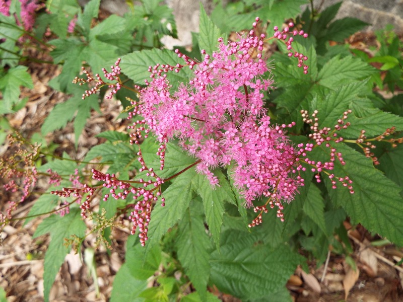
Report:
[[318,82],[320,85],[335,89],[340,85],[347,84],[351,80],[365,79],[375,72],[376,69],[374,67],[360,59],[355,59],[352,56],[344,58],[335,56],[320,69]]

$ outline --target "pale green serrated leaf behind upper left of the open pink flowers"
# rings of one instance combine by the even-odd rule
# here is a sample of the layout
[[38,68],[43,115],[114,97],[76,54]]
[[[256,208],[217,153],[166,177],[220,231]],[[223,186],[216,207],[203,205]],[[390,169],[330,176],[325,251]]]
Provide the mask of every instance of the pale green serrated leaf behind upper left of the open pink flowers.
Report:
[[[183,64],[183,60],[178,55],[168,49],[157,49],[135,51],[122,57],[120,67],[128,78],[137,84],[144,84],[144,80],[150,79],[149,66],[156,64],[169,64],[175,66],[177,63]],[[180,83],[185,83],[191,75],[189,68],[182,68],[180,72],[168,72],[168,79],[176,89]]]

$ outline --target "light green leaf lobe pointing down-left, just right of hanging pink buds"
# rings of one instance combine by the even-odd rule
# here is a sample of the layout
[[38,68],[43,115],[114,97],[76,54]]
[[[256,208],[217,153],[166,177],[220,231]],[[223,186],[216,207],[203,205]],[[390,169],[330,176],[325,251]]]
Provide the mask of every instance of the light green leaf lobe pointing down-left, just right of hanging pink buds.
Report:
[[149,240],[147,248],[158,244],[162,236],[175,225],[185,214],[190,200],[194,197],[194,184],[192,183],[196,172],[189,169],[172,180],[172,184],[162,195],[165,197],[165,206],[156,204],[151,212],[149,224]]

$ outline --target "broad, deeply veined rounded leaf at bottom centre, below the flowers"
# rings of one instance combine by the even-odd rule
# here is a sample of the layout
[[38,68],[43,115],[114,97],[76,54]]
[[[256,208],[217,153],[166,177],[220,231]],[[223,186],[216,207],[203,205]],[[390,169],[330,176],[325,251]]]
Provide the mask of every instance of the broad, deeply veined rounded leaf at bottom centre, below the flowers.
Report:
[[271,250],[258,237],[246,234],[223,234],[220,252],[211,254],[211,281],[241,299],[269,296],[285,286],[303,258],[288,246]]

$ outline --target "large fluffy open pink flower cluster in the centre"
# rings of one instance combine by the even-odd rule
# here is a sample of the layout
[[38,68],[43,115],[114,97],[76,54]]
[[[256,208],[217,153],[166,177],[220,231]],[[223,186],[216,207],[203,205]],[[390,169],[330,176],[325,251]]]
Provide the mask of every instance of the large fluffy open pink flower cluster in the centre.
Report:
[[[273,125],[266,115],[264,91],[273,88],[274,81],[262,58],[265,38],[251,30],[235,42],[220,38],[219,50],[211,55],[202,51],[201,62],[176,50],[185,64],[150,66],[151,81],[140,91],[140,101],[133,102],[130,117],[144,119],[133,123],[138,131],[132,142],[138,142],[140,131],[146,137],[151,131],[160,142],[161,156],[166,142],[176,137],[198,159],[196,170],[212,185],[218,184],[213,170],[232,165],[232,177],[246,205],[260,196],[270,197],[282,217],[282,202],[291,201],[303,185],[303,179],[294,176],[303,168],[286,136],[286,129],[294,124]],[[171,92],[166,73],[185,66],[194,70],[193,78]],[[163,162],[161,157],[161,169]]]

